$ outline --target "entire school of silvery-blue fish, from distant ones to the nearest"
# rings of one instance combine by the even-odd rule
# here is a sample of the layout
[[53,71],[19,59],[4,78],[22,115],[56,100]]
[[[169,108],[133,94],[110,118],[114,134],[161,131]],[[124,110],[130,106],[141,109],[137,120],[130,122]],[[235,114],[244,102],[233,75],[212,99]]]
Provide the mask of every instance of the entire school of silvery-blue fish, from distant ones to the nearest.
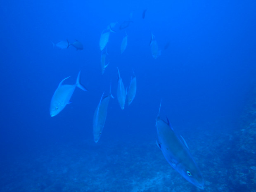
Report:
[[[142,19],[145,19],[147,9],[144,9],[142,12]],[[130,13],[130,17],[128,20],[123,21],[121,24],[118,22],[110,23],[104,30],[102,31],[100,35],[100,69],[102,75],[104,74],[105,69],[109,65],[109,54],[107,53],[107,44],[109,42],[109,36],[112,36],[112,33],[117,33],[118,31],[122,31],[123,29],[128,28],[132,23],[133,12]],[[119,24],[119,25],[118,25]],[[120,54],[123,54],[123,52],[126,50],[128,45],[128,34],[125,31],[125,35],[123,37],[123,40],[121,41],[121,52]],[[130,38],[129,38],[130,39]],[[69,40],[61,40],[58,43],[53,43],[53,48],[57,48],[59,50],[68,49],[70,45],[74,47],[76,50],[83,50],[83,44],[75,40],[73,43],[69,43]],[[164,46],[164,50],[166,50],[170,45],[170,42],[168,41],[166,45]],[[149,46],[151,47],[151,54],[154,59],[157,59],[161,56],[161,50],[159,50],[158,43],[156,42],[156,38],[151,33],[151,39],[149,41]],[[137,90],[137,78],[135,76],[135,72],[133,71],[133,75],[130,79],[130,85],[124,86],[123,80],[120,75],[119,68],[116,67],[118,72],[118,83],[117,83],[117,90],[116,90],[116,99],[119,103],[119,106],[121,109],[125,108],[125,103],[128,104],[128,106],[133,102],[136,95]],[[122,72],[122,71],[121,71]],[[78,76],[76,78],[76,83],[73,85],[64,85],[63,82],[69,78],[64,78],[58,85],[57,89],[55,90],[51,102],[50,102],[50,116],[56,116],[59,114],[67,104],[70,104],[71,97],[73,95],[73,92],[76,87],[80,88],[83,91],[87,91],[85,86],[83,86],[80,83],[80,75],[81,71],[79,71]],[[109,105],[109,101],[111,98],[114,99],[114,96],[111,94],[111,80],[110,80],[110,90],[109,93],[106,95],[104,92],[101,95],[100,102],[97,104],[97,107],[94,112],[93,116],[93,138],[95,143],[97,143],[100,140],[100,137],[102,135],[102,131],[106,122],[107,118],[107,109]],[[171,126],[171,123],[167,119],[167,121],[164,121],[160,118],[160,109],[161,109],[161,103],[159,107],[159,113],[156,117],[156,131],[158,139],[156,140],[156,145],[161,149],[161,152],[163,153],[166,161],[175,169],[180,175],[183,176],[187,181],[198,187],[199,189],[204,189],[204,180],[201,175],[201,172],[199,171],[199,168],[197,164],[195,163],[192,155],[190,154],[190,151],[187,147],[187,143],[185,142],[185,139],[180,136],[178,137],[173,127]]]

